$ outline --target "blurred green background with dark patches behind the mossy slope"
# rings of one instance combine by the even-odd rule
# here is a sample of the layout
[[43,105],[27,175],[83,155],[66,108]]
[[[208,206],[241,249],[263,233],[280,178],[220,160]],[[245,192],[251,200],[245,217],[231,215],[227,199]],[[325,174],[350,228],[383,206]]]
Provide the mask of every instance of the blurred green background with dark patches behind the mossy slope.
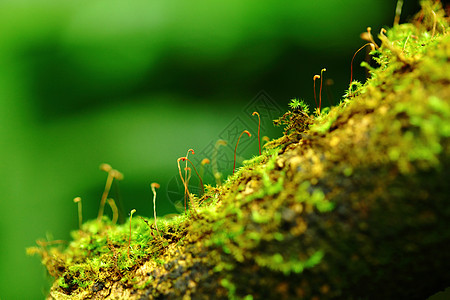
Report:
[[[51,278],[26,247],[70,239],[76,196],[97,215],[108,162],[124,173],[111,195],[124,216],[179,211],[176,160],[211,159],[224,176],[257,154],[291,98],[314,108],[312,77],[325,73],[323,105],[348,86],[359,34],[392,26],[396,1],[0,1],[0,298],[42,299]],[[405,1],[402,20],[418,10]],[[362,52],[361,52],[362,53]],[[355,63],[354,78],[365,72]],[[205,181],[214,183],[211,166]],[[192,182],[195,185],[196,179]],[[193,187],[195,188],[195,186]],[[106,210],[107,214],[110,211]]]

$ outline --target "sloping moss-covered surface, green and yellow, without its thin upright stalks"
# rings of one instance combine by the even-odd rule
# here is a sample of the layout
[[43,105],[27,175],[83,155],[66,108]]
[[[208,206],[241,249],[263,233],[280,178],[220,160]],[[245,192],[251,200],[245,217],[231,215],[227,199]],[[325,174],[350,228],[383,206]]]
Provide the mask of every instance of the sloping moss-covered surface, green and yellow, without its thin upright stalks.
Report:
[[[49,299],[424,299],[450,284],[450,38],[440,3],[379,35],[370,79],[175,218],[39,242]],[[131,224],[131,225],[130,225]],[[131,226],[131,227],[130,227]],[[130,235],[131,228],[131,235]]]

